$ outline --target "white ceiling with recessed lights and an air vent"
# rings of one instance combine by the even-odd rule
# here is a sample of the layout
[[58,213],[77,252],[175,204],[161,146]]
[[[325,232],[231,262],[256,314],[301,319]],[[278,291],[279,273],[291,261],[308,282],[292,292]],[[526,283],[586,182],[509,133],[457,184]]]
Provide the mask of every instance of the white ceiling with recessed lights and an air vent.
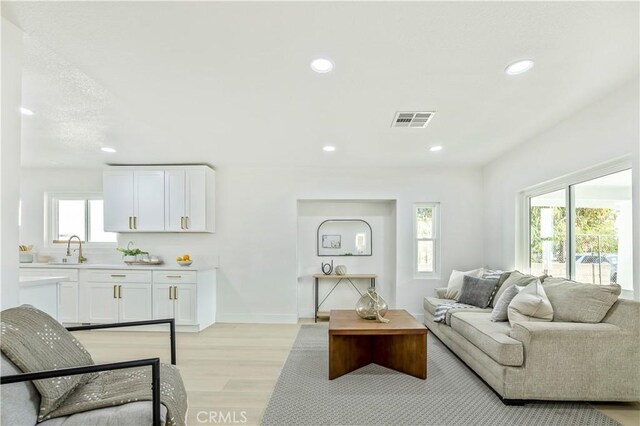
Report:
[[[25,166],[481,165],[639,73],[637,2],[3,2],[2,14],[27,34]],[[319,56],[334,72],[310,70]],[[533,70],[506,76],[521,58]],[[390,127],[414,110],[436,115]]]

